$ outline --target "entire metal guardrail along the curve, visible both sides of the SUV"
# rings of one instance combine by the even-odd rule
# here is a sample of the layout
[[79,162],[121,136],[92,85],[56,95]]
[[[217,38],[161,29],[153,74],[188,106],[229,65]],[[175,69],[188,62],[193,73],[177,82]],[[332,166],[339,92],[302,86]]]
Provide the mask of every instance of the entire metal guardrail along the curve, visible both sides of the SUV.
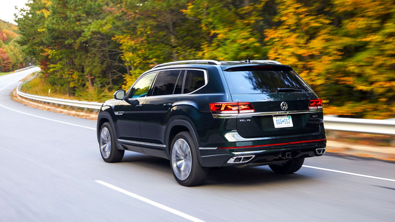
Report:
[[[36,74],[37,75],[37,74]],[[97,102],[86,102],[78,100],[65,100],[46,96],[36,96],[21,92],[21,86],[36,77],[32,76],[28,80],[19,84],[17,94],[21,97],[32,99],[35,101],[42,101],[53,104],[60,104],[65,106],[73,106],[87,109],[99,110],[102,106]],[[354,132],[354,133],[368,133],[377,135],[395,136],[395,121],[394,120],[378,120],[378,119],[353,119],[353,118],[339,118],[324,116],[324,125],[327,130]]]

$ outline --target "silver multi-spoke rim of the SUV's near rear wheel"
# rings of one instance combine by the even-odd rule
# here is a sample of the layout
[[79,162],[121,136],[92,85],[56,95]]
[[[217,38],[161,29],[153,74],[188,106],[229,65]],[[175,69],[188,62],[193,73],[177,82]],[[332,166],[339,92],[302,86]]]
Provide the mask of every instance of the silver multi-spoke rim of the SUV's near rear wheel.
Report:
[[186,180],[192,169],[191,149],[187,141],[178,139],[174,143],[171,152],[171,162],[176,177],[181,181]]

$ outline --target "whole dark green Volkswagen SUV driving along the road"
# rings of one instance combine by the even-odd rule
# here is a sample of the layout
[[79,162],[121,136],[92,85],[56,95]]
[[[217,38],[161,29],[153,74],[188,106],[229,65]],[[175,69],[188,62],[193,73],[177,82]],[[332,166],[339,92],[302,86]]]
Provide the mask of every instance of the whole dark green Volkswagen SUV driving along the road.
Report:
[[212,167],[294,173],[326,147],[322,101],[291,67],[266,60],[158,65],[103,104],[97,138],[104,161],[124,150],[163,157],[185,186]]

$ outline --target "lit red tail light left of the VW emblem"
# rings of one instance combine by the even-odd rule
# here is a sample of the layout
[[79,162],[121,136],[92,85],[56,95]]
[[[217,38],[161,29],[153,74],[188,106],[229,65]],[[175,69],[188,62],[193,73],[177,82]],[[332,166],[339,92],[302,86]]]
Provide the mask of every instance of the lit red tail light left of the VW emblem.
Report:
[[213,114],[247,113],[255,111],[254,107],[248,102],[210,103],[210,110]]

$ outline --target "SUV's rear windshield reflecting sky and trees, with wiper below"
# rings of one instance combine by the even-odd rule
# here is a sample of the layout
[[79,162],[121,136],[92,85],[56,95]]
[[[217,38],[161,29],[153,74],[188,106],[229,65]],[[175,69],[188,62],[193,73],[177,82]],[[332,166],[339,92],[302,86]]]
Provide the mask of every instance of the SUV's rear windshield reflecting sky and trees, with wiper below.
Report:
[[311,92],[310,87],[294,71],[225,71],[224,74],[231,94],[276,93],[278,88]]

